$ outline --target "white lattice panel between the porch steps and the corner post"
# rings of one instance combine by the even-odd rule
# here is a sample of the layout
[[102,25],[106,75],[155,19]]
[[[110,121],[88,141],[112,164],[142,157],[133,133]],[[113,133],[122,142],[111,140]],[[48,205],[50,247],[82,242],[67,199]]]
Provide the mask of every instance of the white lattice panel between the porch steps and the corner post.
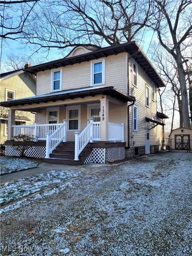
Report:
[[84,164],[88,163],[105,163],[105,148],[93,148],[91,154],[87,157]]

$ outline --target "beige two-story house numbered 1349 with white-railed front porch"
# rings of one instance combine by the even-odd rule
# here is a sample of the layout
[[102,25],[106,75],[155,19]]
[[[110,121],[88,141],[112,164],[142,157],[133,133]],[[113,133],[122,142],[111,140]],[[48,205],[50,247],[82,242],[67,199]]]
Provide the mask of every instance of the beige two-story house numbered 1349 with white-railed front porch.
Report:
[[[113,162],[157,152],[163,113],[157,90],[165,84],[137,42],[75,47],[65,58],[25,70],[37,76],[37,96],[2,102],[10,107],[12,136],[35,136],[29,156],[67,164]],[[13,126],[16,110],[36,112],[36,124]]]

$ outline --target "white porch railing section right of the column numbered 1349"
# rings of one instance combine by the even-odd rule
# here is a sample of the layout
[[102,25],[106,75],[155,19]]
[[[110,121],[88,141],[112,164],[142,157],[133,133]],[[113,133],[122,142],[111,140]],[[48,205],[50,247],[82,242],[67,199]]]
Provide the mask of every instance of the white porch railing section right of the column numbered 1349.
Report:
[[109,132],[109,140],[116,141],[120,140],[124,142],[124,123],[122,124],[115,124],[109,123],[108,125],[108,132]]

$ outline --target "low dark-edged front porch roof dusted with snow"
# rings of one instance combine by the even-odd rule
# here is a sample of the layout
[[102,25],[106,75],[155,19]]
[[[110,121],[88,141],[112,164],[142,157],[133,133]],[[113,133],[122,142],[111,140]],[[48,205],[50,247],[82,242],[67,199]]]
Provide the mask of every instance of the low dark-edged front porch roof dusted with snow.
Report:
[[0,103],[0,106],[11,107],[11,106],[25,105],[25,104],[32,104],[32,103],[37,103],[37,104],[41,102],[47,103],[48,101],[58,101],[58,100],[65,100],[65,99],[73,100],[74,98],[85,97],[85,96],[95,96],[99,94],[110,95],[124,102],[135,101],[134,96],[129,96],[128,94],[118,90],[113,86],[105,86],[105,87],[93,86],[93,87],[86,87],[86,88],[80,88],[80,89],[74,89],[74,90],[53,92],[53,93],[23,98],[23,99],[4,101]]

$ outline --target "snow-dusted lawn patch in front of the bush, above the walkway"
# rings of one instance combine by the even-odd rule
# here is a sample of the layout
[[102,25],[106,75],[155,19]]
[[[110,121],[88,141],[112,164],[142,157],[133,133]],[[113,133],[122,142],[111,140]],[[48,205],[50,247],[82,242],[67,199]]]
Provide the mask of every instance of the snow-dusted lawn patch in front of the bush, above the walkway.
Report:
[[39,164],[39,161],[30,160],[27,158],[1,156],[1,160],[0,160],[1,175],[34,168],[38,166],[38,164]]

